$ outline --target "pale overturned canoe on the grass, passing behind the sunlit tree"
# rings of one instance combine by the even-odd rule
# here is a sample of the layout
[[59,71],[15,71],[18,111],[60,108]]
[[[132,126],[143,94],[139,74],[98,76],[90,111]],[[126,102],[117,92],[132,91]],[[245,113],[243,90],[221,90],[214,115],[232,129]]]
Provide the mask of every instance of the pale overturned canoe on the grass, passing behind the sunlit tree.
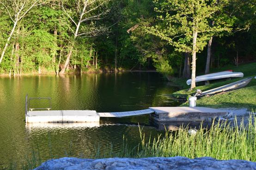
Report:
[[[207,81],[212,79],[224,79],[224,78],[231,78],[231,77],[244,77],[244,74],[241,72],[223,71],[218,73],[197,76],[195,77],[195,82]],[[191,84],[191,79],[188,79],[187,85],[190,85],[190,84]]]

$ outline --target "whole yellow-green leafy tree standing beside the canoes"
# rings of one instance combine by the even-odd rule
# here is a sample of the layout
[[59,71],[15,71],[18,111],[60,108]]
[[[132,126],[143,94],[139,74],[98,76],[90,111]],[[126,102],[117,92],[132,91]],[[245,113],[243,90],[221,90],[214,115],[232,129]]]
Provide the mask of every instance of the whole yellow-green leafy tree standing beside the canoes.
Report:
[[192,54],[191,87],[195,88],[196,53],[203,50],[212,33],[227,30],[226,26],[209,26],[219,7],[213,0],[154,0],[159,23],[148,27],[150,34],[167,40],[177,51]]

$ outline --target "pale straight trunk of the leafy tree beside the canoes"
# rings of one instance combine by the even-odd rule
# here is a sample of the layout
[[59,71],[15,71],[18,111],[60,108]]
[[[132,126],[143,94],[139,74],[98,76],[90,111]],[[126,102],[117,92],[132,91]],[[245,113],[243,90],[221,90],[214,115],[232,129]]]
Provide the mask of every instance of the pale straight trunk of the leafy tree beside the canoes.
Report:
[[191,74],[191,86],[190,89],[195,88],[195,65],[196,65],[196,39],[197,30],[193,30],[193,50],[192,50],[192,74]]

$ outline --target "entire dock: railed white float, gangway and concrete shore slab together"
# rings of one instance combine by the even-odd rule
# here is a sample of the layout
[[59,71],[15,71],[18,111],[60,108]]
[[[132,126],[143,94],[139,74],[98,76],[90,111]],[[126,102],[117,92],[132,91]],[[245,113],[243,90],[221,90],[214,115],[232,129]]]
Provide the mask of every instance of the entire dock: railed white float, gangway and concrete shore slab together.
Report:
[[[48,108],[30,108],[30,100],[47,99]],[[36,111],[40,109],[40,111]],[[42,110],[47,109],[47,110]],[[150,117],[158,122],[188,122],[213,119],[227,114],[226,111],[204,107],[152,107],[144,110],[128,112],[104,112],[97,113],[95,110],[50,110],[51,100],[49,97],[30,98],[26,96],[25,119],[27,123],[79,123],[99,122],[100,117],[126,117],[150,114]]]

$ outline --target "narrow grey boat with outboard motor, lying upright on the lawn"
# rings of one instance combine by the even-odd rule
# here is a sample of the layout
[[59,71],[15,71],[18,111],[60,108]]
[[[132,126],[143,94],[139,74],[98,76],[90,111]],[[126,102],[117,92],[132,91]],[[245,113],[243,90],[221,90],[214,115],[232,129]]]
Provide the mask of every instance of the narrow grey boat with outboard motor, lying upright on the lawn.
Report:
[[196,90],[196,94],[194,96],[204,96],[204,95],[214,95],[216,93],[220,93],[220,92],[224,92],[224,91],[232,91],[235,89],[239,89],[242,88],[246,85],[248,85],[248,83],[250,83],[252,77],[248,77],[246,79],[241,79],[239,81],[230,83],[228,85],[223,85],[208,91],[201,91],[201,90]]

